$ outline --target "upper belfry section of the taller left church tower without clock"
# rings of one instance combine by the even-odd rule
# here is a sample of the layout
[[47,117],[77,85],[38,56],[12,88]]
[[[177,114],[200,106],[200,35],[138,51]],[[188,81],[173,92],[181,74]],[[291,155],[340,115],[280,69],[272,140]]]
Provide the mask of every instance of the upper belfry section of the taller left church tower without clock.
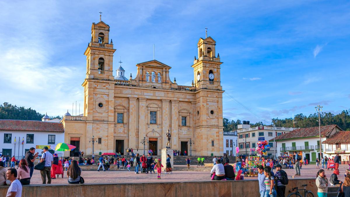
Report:
[[91,41],[87,45],[86,79],[114,80],[113,77],[113,42],[109,42],[110,26],[103,21],[92,23]]

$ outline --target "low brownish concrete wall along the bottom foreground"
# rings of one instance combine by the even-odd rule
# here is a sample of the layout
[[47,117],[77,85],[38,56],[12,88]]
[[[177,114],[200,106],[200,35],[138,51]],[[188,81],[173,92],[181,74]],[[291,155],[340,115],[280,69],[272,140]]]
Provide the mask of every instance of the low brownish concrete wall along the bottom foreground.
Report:
[[[88,180],[85,180],[88,181]],[[286,194],[292,187],[307,189],[317,195],[315,179],[290,179]],[[247,189],[249,188],[249,189]],[[6,196],[8,186],[0,186],[0,196]],[[257,180],[248,181],[204,181],[169,183],[126,183],[126,184],[50,184],[23,185],[23,197],[38,196],[259,196]],[[303,195],[303,193],[302,193]],[[146,195],[147,196],[147,195]]]

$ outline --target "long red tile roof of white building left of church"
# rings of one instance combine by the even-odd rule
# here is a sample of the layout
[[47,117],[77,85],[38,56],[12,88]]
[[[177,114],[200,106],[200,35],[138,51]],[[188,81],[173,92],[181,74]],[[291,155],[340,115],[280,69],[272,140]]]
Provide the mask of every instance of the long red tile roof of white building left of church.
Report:
[[63,124],[60,122],[35,120],[0,120],[0,130],[64,132]]

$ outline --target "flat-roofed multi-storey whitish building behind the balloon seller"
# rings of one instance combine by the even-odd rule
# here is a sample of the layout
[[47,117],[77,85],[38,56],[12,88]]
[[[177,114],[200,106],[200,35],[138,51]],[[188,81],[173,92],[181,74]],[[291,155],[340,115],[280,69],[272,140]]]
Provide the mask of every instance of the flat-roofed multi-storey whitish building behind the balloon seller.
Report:
[[[243,121],[243,123],[245,122],[246,121]],[[239,124],[237,126],[239,155],[248,155],[249,149],[255,149],[256,147],[258,147],[258,141],[265,140],[268,141],[268,144],[271,146],[271,149],[267,151],[267,155],[274,155],[275,144],[271,139],[273,139],[275,136],[280,136],[282,134],[288,133],[289,131],[293,131],[294,129],[296,129],[290,127],[271,127],[263,125],[251,128],[249,121],[247,124]]]

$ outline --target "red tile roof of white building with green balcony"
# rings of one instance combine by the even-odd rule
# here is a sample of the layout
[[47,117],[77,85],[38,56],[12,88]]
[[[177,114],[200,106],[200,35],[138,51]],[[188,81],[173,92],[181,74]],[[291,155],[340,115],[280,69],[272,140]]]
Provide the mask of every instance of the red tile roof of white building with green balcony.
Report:
[[[338,126],[336,124],[322,126],[321,136],[327,136],[328,133],[330,133],[335,127],[338,127]],[[341,128],[339,129],[342,130]],[[288,139],[294,139],[294,138],[317,137],[317,136],[320,136],[318,127],[309,127],[309,128],[295,129],[293,131],[290,131],[288,133],[275,137],[275,140],[288,140]]]

